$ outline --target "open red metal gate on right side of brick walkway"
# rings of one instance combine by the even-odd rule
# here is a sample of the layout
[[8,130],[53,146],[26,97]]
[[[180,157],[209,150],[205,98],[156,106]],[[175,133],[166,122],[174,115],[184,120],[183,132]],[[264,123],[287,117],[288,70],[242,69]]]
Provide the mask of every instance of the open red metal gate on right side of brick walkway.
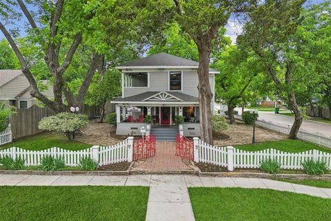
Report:
[[190,140],[187,137],[177,133],[176,155],[188,160],[193,160],[193,140]]

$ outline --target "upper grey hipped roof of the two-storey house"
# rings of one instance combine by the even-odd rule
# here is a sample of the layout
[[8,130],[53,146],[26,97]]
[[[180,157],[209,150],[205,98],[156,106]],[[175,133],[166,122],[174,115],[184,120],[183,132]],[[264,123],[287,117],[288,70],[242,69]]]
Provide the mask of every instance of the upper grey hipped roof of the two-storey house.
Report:
[[[142,59],[137,59],[134,61],[128,61],[121,66],[117,66],[118,69],[126,68],[198,68],[199,62],[192,61],[190,59],[185,59],[183,57],[178,57],[175,55],[169,55],[165,52],[161,52],[155,55],[150,55]],[[210,68],[211,72],[218,72]]]

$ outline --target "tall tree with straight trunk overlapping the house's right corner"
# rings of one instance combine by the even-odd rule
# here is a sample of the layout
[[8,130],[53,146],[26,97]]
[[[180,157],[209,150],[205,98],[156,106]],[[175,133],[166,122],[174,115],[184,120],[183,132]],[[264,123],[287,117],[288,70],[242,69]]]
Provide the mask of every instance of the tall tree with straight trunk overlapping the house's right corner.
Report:
[[177,16],[175,21],[183,32],[197,44],[199,55],[199,119],[201,139],[212,144],[212,92],[209,82],[210,52],[217,45],[220,30],[234,12],[243,12],[254,1],[227,0],[174,0]]

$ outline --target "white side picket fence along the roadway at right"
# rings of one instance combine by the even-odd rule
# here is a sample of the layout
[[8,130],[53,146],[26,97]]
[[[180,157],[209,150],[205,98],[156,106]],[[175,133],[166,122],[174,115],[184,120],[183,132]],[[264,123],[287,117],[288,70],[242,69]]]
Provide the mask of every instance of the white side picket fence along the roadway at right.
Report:
[[[240,115],[234,115],[234,117],[242,120],[242,117]],[[271,131],[277,131],[279,133],[285,133],[287,135],[290,133],[292,127],[292,124],[288,124],[288,126],[283,126],[281,124],[265,122],[264,120],[256,120],[255,124],[257,124],[257,126],[261,126],[262,128],[266,128]],[[297,137],[300,140],[311,142],[319,146],[325,146],[331,148],[331,137],[328,137],[327,135],[324,135],[321,132],[312,133],[305,130],[304,128],[300,128]]]

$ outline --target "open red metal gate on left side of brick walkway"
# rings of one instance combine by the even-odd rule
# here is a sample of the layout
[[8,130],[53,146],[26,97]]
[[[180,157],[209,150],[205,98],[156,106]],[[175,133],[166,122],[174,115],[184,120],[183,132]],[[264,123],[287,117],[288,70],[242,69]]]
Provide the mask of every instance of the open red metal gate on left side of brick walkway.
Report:
[[154,157],[156,135],[151,134],[139,140],[133,141],[133,160],[142,160],[147,157]]

